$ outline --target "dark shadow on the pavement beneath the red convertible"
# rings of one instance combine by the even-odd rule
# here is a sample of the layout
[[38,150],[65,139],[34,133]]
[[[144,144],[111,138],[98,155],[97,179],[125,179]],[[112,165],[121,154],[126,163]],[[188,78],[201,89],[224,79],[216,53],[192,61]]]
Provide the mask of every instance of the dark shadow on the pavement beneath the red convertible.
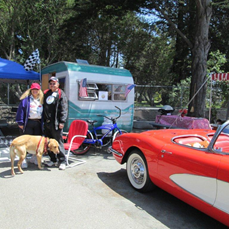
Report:
[[[227,228],[160,188],[156,188],[151,193],[139,193],[131,187],[125,169],[114,173],[100,172],[98,177],[113,191],[134,203],[136,208],[146,211],[169,228]],[[182,218],[182,222],[180,222],[180,218]],[[174,222],[176,222],[175,225]]]

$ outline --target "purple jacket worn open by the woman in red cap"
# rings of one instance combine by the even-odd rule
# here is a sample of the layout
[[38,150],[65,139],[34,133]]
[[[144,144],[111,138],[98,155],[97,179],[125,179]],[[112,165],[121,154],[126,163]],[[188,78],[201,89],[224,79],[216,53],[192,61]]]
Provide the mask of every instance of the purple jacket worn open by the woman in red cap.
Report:
[[[25,131],[25,127],[29,118],[29,110],[30,110],[30,96],[21,100],[16,115],[16,122],[19,126],[23,126],[23,132]],[[41,120],[41,128],[43,127],[43,119]]]

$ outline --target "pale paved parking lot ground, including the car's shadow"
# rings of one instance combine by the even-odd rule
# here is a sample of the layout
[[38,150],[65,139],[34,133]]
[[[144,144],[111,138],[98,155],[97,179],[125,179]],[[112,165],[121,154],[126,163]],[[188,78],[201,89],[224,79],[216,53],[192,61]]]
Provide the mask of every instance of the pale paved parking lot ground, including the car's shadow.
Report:
[[227,228],[159,188],[136,192],[104,150],[78,157],[86,163],[65,171],[29,163],[15,177],[0,162],[1,228]]

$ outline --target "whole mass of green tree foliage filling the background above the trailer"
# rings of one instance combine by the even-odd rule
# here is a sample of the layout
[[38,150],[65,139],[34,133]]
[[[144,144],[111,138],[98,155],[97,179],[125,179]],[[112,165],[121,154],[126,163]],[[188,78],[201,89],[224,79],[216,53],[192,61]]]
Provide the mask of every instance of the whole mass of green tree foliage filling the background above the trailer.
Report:
[[[225,32],[229,11],[222,6],[227,7],[227,1],[213,3],[209,72],[229,70],[225,62],[229,56],[229,37]],[[151,21],[139,14],[141,10],[150,12]],[[76,58],[87,59],[90,64],[124,67],[130,70],[137,85],[152,86],[139,89],[139,101],[149,106],[185,106],[191,49],[167,23],[162,10],[193,42],[195,1],[0,0],[0,56],[24,64],[38,48],[42,67]],[[153,87],[171,84],[176,85],[173,90]],[[224,84],[217,83],[218,89],[214,89],[220,101],[215,101],[217,106],[228,99]]]

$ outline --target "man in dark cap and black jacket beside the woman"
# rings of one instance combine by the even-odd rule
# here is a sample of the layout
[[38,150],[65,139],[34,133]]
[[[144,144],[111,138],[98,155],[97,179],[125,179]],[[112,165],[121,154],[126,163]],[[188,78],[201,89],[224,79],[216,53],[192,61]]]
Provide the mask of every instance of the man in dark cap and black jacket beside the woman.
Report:
[[[57,154],[59,169],[66,168],[65,149],[63,144],[63,128],[68,116],[68,103],[65,93],[59,88],[56,77],[49,79],[49,89],[44,91],[44,134],[54,138],[59,143],[60,153]],[[48,152],[50,161],[48,166],[57,165],[57,158],[53,152]]]

